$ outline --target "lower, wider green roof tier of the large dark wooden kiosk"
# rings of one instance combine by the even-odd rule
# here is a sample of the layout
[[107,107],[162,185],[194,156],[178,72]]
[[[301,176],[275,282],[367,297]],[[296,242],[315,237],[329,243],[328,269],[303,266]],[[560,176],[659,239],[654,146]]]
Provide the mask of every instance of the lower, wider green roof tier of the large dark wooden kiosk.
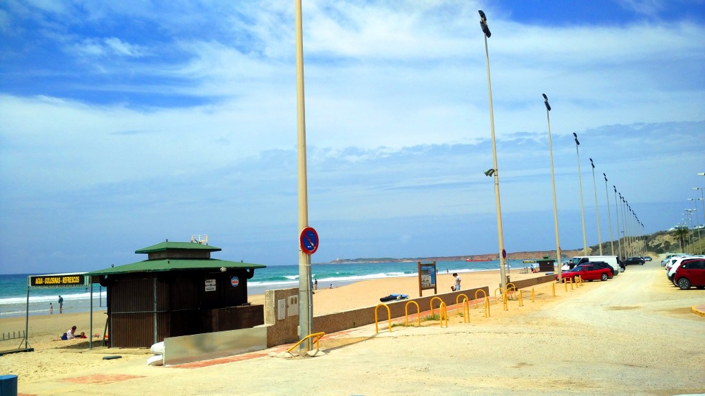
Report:
[[[198,245],[191,244],[190,242],[167,242],[167,243],[183,243],[185,245]],[[159,246],[159,245],[154,245]],[[203,245],[202,245],[203,246]],[[145,249],[151,249],[145,248]],[[216,249],[218,249],[216,247]],[[144,249],[140,249],[144,250]],[[219,249],[220,250],[220,249]],[[137,251],[140,252],[140,251]],[[145,253],[145,252],[141,252]],[[114,275],[116,273],[133,273],[133,272],[159,272],[159,271],[189,271],[196,269],[213,269],[220,271],[220,268],[266,268],[262,264],[251,264],[243,263],[238,261],[226,261],[226,260],[216,260],[216,259],[159,259],[159,260],[145,260],[137,261],[133,264],[125,264],[123,266],[116,266],[111,268],[105,268],[99,271],[93,271],[86,273],[87,276],[102,276],[102,275]]]

